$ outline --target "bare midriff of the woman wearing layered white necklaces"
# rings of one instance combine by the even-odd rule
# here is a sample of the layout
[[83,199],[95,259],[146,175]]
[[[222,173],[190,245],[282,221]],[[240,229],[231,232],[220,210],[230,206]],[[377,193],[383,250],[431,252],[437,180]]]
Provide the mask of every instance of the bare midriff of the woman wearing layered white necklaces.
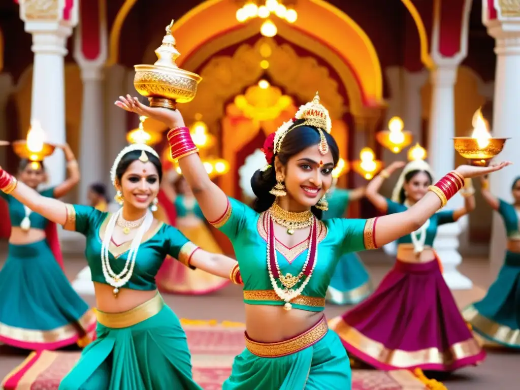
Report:
[[96,308],[105,313],[123,313],[137,307],[157,295],[157,290],[119,289],[117,297],[113,295],[111,285],[94,282],[96,293]]

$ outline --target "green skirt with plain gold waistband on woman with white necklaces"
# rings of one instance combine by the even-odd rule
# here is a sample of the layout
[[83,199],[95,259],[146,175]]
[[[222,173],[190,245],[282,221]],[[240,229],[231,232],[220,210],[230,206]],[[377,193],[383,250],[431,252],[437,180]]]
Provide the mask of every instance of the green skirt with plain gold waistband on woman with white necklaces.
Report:
[[[139,319],[157,300],[162,302],[158,296],[115,316]],[[164,303],[155,313],[118,328],[101,324],[98,314],[97,339],[83,349],[59,390],[202,390],[192,379],[191,355],[179,319]]]

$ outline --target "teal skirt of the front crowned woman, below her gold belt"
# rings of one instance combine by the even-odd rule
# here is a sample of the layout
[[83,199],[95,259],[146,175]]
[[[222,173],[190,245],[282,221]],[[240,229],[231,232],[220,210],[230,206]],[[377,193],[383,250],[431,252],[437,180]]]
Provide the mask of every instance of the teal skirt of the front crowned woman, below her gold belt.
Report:
[[223,390],[350,390],[350,362],[337,334],[291,355],[259,357],[248,349],[235,358]]

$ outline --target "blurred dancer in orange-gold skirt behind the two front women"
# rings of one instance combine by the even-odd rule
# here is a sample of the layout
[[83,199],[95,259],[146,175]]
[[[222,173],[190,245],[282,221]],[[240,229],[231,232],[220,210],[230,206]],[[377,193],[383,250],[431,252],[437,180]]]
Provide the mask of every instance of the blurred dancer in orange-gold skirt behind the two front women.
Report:
[[[175,206],[177,229],[206,252],[222,253],[206,226],[197,199],[193,196],[184,177],[177,177],[175,187],[177,190],[167,186],[164,188],[164,193]],[[230,283],[229,279],[208,274],[202,269],[190,270],[170,257],[166,258],[155,279],[161,291],[188,295],[209,294]]]

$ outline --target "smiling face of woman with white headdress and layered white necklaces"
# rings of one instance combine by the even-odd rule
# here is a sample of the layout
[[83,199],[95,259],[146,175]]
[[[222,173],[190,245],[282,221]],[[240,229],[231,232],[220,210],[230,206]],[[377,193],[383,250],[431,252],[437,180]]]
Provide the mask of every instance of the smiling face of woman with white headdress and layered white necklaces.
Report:
[[159,173],[150,161],[135,160],[128,165],[116,187],[123,193],[125,205],[147,209],[159,193]]

